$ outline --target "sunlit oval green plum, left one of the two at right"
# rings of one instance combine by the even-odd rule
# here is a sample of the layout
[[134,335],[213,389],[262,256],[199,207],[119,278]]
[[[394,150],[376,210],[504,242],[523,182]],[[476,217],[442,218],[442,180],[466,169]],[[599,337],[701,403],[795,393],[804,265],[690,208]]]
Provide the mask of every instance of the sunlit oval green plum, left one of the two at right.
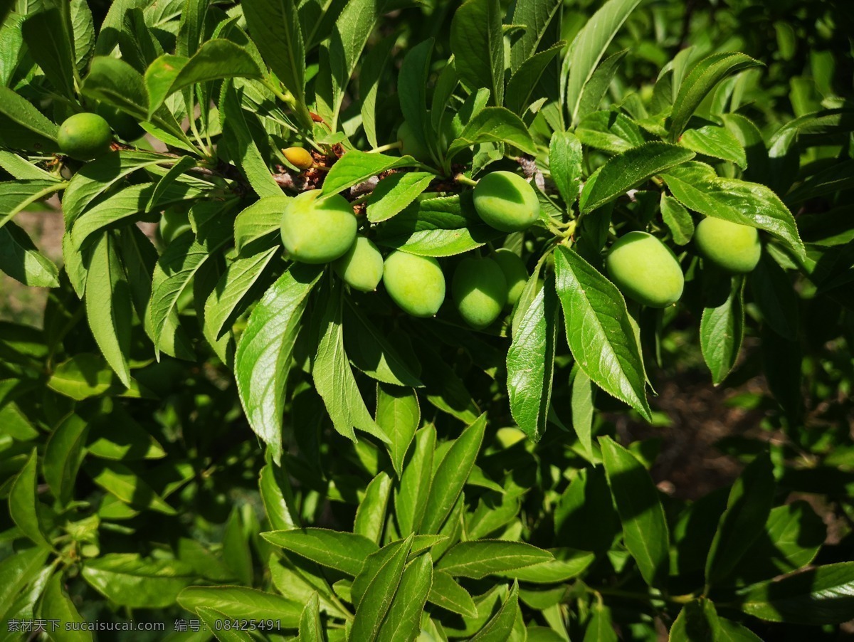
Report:
[[670,306],[682,295],[685,277],[673,251],[646,232],[629,232],[611,246],[605,267],[617,288],[645,306]]

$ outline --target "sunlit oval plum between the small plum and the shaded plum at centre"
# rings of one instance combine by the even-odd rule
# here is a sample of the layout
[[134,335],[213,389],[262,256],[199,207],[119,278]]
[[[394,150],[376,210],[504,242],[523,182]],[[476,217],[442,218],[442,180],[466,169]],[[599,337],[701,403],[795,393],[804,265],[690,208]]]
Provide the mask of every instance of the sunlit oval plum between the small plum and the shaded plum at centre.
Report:
[[430,256],[392,252],[383,265],[383,284],[391,300],[413,317],[432,317],[445,301],[445,275]]

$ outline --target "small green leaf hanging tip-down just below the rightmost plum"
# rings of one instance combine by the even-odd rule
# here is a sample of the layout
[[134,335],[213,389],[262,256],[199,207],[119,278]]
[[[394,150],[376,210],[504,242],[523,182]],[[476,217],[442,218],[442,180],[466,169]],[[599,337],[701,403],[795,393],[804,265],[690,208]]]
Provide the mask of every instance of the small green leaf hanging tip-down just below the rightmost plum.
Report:
[[744,337],[744,279],[734,277],[726,301],[704,307],[699,323],[699,347],[711,380],[717,386],[733,370]]

